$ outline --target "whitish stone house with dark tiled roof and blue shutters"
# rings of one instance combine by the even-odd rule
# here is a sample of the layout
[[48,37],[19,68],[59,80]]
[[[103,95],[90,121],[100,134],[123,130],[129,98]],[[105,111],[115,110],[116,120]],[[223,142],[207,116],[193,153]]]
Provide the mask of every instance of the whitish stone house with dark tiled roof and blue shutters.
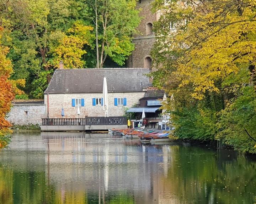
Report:
[[47,117],[62,118],[62,109],[63,118],[104,117],[104,77],[109,116],[122,116],[125,108],[144,97],[149,86],[148,73],[148,69],[140,68],[57,69],[44,92]]

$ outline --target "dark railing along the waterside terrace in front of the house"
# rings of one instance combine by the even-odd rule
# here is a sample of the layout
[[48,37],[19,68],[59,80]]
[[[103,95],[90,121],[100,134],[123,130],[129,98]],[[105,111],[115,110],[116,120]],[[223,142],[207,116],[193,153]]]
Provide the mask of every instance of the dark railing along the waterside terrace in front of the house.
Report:
[[126,117],[43,118],[42,125],[126,125]]

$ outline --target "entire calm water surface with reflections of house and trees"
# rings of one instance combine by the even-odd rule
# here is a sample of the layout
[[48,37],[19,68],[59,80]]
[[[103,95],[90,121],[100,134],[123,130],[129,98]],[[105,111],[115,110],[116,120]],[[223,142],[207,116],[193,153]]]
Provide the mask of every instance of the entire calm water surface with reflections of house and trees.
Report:
[[0,204],[252,204],[256,160],[108,134],[15,133],[0,151]]

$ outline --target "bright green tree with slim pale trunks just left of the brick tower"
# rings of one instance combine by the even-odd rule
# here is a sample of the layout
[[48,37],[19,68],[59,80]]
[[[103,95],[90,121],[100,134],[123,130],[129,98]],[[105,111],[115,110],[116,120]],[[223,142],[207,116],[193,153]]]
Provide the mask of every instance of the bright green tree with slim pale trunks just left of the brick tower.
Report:
[[97,68],[107,57],[122,66],[134,50],[132,35],[137,33],[139,11],[136,0],[88,0],[91,19],[96,30]]

